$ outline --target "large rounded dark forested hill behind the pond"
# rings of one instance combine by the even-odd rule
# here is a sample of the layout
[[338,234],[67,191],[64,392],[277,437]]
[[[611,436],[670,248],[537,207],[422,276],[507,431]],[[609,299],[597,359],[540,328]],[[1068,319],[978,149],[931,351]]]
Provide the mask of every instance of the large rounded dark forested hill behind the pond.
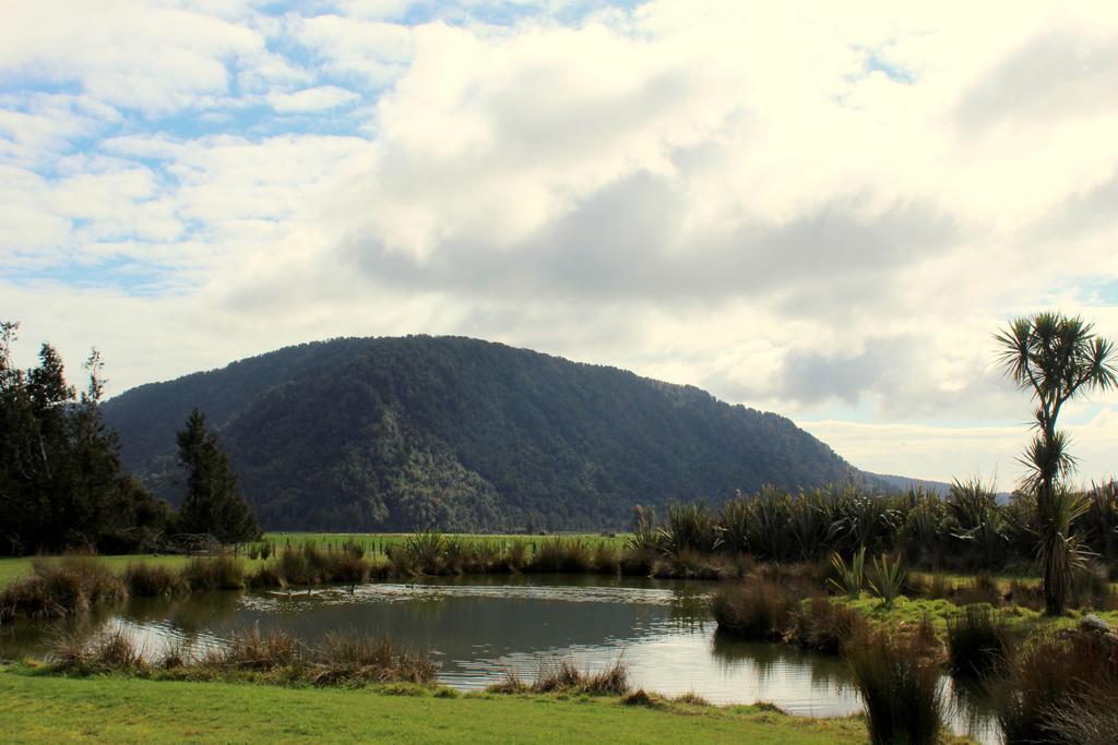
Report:
[[788,419],[697,388],[471,338],[341,338],[105,402],[125,467],[172,502],[195,405],[273,529],[619,527],[636,504],[859,477]]

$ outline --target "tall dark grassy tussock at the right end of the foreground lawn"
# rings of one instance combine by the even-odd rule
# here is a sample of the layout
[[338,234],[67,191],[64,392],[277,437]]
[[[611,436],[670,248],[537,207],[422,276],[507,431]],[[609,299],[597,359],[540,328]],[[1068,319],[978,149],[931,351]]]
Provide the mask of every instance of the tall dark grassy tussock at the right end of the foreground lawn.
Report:
[[872,743],[935,743],[942,722],[939,668],[919,637],[860,634],[846,648]]

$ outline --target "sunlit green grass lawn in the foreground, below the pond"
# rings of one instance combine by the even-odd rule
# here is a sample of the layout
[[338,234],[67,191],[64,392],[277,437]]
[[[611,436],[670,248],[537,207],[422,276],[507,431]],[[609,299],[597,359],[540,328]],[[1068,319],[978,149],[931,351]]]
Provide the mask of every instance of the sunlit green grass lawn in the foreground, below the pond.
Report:
[[615,698],[276,688],[0,668],[0,742],[863,743],[860,718]]

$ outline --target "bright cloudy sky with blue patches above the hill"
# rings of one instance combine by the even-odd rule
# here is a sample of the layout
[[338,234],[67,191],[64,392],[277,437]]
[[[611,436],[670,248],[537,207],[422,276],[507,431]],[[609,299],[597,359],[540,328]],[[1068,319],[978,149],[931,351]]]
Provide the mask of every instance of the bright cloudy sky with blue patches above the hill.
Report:
[[[0,317],[108,393],[457,334],[1013,488],[993,334],[1118,340],[1118,3],[6,0]],[[1118,394],[1061,416],[1118,474]]]

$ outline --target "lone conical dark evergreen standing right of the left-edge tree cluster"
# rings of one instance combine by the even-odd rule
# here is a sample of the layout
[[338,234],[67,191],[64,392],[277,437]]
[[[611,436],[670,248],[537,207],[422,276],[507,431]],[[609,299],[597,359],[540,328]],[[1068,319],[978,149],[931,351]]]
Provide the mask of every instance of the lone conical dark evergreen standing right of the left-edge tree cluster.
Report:
[[187,496],[179,508],[183,533],[208,533],[221,543],[253,541],[259,536],[256,516],[245,504],[229,458],[217,434],[206,430],[206,417],[196,407],[178,433],[179,460],[188,470]]

